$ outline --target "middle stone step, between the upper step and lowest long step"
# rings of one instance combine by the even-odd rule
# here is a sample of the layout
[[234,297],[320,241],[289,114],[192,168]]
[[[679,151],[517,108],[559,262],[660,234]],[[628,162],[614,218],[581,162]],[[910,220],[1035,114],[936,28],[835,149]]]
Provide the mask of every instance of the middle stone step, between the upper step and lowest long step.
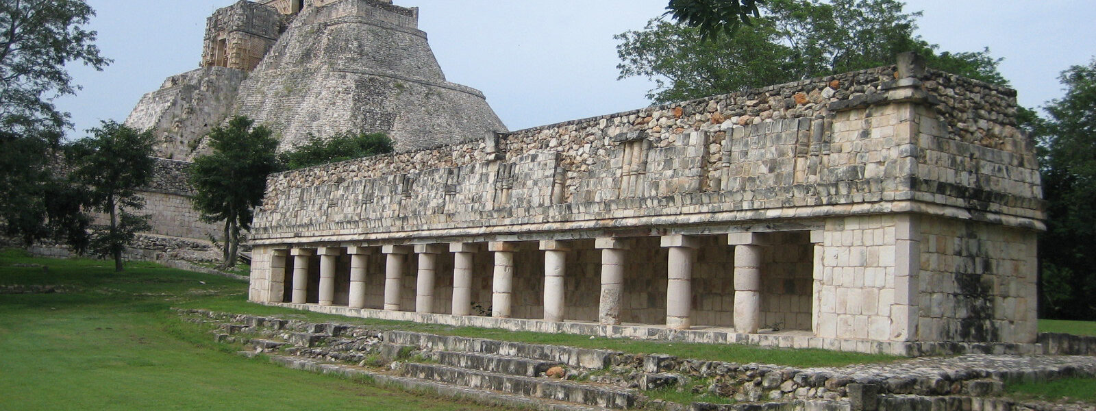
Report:
[[617,387],[505,375],[437,364],[407,363],[402,365],[402,370],[404,376],[413,378],[585,406],[630,409],[639,404],[636,392]]

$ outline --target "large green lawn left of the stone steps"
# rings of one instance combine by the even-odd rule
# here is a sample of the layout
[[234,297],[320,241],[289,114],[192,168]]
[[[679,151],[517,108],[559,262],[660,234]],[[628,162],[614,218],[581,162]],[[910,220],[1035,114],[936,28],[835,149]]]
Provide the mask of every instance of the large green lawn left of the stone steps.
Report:
[[0,285],[64,285],[0,295],[0,410],[502,410],[240,357],[169,307],[238,296],[244,283],[112,265],[0,253]]

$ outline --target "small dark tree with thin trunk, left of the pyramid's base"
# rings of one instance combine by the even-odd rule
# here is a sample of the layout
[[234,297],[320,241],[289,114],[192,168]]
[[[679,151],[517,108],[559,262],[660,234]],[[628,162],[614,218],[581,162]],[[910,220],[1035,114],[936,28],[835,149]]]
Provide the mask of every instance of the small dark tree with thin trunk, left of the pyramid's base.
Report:
[[152,178],[150,130],[137,132],[123,124],[103,122],[91,129],[92,137],[72,145],[72,179],[87,191],[87,205],[110,215],[107,226],[95,227],[92,250],[114,259],[121,272],[122,252],[138,231],[150,229],[148,217],[130,213],[141,209],[145,199],[137,191]]

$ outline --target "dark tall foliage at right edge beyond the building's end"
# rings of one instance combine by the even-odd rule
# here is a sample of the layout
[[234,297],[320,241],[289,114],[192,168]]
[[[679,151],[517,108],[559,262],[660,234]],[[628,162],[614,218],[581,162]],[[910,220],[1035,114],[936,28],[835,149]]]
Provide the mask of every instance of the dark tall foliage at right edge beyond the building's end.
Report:
[[1065,96],[1046,107],[1038,135],[1048,230],[1040,238],[1043,315],[1096,318],[1096,59],[1060,77]]

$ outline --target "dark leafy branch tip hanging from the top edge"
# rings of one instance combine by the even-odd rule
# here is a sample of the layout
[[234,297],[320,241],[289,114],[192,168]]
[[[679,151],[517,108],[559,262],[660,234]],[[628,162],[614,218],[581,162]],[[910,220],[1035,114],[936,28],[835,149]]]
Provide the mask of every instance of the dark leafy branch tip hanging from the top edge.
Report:
[[674,20],[696,27],[704,41],[720,34],[732,36],[741,24],[750,24],[750,18],[757,18],[757,4],[764,0],[670,0],[666,14]]

